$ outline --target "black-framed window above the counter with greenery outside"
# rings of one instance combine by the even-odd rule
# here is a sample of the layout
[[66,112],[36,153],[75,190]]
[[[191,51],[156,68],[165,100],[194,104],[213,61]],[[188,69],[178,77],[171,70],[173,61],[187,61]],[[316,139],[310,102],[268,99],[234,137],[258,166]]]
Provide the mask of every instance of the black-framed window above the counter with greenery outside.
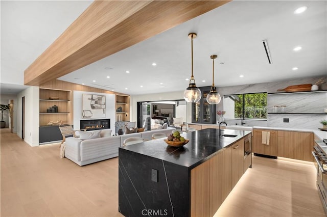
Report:
[[267,93],[224,95],[225,119],[267,119]]

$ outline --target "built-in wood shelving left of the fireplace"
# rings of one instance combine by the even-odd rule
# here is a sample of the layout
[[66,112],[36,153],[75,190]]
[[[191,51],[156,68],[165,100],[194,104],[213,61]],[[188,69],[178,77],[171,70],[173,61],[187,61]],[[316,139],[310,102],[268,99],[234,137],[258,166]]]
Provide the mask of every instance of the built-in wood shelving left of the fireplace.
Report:
[[[71,93],[70,90],[58,90],[49,88],[40,88],[39,92],[39,114],[40,126],[48,126],[49,122],[61,121],[64,124],[70,124],[69,113],[71,112]],[[48,108],[53,105],[58,106],[57,113],[48,113]]]

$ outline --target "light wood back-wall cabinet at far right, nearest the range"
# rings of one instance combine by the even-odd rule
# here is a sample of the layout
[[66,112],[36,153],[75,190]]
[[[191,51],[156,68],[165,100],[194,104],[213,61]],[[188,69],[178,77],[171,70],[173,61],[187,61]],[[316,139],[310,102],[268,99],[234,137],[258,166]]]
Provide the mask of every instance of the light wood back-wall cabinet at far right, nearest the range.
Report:
[[290,158],[313,161],[312,150],[312,132],[290,132]]

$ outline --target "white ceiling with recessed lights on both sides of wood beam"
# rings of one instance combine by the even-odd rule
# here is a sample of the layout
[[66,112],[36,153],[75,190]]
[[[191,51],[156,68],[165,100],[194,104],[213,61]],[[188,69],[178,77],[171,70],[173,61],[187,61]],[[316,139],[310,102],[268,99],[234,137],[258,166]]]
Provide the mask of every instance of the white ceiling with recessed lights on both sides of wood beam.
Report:
[[[22,85],[24,70],[90,4],[24,3],[1,2],[1,91],[3,83]],[[308,10],[294,14],[300,6]],[[213,54],[218,55],[217,87],[326,75],[326,8],[326,1],[233,1],[59,79],[130,95],[182,91],[188,86],[185,78],[191,76],[190,32],[198,35],[194,39],[198,87],[212,84]],[[272,64],[262,40],[268,41]],[[295,46],[302,49],[295,52]]]

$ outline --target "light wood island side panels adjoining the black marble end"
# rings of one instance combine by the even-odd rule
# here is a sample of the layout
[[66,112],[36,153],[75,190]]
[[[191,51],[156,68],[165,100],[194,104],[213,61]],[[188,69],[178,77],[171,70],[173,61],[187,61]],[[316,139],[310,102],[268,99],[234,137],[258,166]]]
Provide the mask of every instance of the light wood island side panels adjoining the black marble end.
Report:
[[191,171],[191,216],[213,216],[231,191],[232,148]]

